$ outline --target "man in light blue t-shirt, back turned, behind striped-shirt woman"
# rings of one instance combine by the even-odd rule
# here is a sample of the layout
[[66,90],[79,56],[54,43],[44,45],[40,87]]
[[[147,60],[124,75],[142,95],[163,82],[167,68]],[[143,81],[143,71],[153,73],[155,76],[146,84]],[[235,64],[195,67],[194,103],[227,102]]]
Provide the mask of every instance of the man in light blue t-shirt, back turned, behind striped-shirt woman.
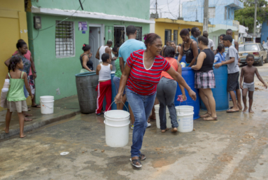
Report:
[[[146,50],[146,46],[142,41],[136,40],[136,27],[134,25],[129,25],[126,29],[128,40],[120,46],[118,57],[120,60],[120,69],[123,72],[125,69],[125,63],[127,62],[127,58],[136,50]],[[129,106],[130,118],[132,119],[132,126],[134,128],[134,115],[132,109]],[[147,127],[150,127],[151,124],[147,123]]]

